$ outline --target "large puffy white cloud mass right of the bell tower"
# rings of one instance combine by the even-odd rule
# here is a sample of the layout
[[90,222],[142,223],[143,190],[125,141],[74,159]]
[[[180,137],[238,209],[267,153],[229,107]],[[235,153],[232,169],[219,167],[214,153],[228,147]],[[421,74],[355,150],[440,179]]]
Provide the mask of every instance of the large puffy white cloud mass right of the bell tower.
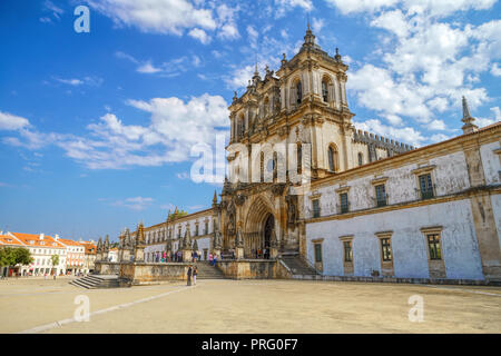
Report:
[[[462,96],[472,109],[491,100],[479,79],[489,70],[498,72],[492,62],[501,58],[501,21],[473,26],[441,19],[460,10],[488,9],[493,1],[330,2],[344,13],[369,12],[372,27],[394,34],[381,34],[372,53],[381,61],[360,67],[348,75],[347,81],[358,105],[376,111],[390,123],[409,125],[412,119],[429,131],[449,130],[436,116],[446,111],[459,115]],[[458,120],[454,126],[459,125]],[[443,137],[434,135],[426,140],[439,138]],[[414,141],[419,139],[414,137]]]

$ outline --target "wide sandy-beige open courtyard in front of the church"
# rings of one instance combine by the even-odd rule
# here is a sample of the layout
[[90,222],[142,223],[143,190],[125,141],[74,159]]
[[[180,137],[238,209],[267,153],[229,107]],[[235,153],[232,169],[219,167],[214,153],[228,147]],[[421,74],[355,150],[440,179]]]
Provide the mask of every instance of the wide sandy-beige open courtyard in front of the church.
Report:
[[[497,287],[218,279],[87,290],[68,281],[0,280],[0,333],[501,333]],[[81,295],[89,322],[72,319]],[[423,298],[422,323],[409,320],[411,296]]]

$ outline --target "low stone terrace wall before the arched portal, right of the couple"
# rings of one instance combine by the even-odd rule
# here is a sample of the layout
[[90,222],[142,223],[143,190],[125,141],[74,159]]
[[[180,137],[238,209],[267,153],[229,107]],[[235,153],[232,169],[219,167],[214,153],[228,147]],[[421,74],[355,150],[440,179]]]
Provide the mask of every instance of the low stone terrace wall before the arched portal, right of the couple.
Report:
[[226,277],[233,279],[277,278],[277,260],[275,259],[218,260],[216,266]]

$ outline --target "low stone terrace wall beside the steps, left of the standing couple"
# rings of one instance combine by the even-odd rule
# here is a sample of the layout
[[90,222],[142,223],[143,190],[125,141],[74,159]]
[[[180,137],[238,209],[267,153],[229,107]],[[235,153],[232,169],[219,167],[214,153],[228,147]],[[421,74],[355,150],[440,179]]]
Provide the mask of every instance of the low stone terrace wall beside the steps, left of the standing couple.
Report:
[[185,263],[121,263],[120,278],[132,286],[187,279],[189,264]]

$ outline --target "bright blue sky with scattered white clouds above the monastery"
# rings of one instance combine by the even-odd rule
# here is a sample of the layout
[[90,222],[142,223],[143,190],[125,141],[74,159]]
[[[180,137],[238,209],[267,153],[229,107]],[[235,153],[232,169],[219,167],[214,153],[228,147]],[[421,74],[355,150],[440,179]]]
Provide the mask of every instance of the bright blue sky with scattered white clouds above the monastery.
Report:
[[[77,33],[73,10],[90,9]],[[208,208],[196,144],[227,132],[257,63],[340,48],[356,127],[416,146],[501,119],[495,0],[0,2],[0,230],[112,239]]]

